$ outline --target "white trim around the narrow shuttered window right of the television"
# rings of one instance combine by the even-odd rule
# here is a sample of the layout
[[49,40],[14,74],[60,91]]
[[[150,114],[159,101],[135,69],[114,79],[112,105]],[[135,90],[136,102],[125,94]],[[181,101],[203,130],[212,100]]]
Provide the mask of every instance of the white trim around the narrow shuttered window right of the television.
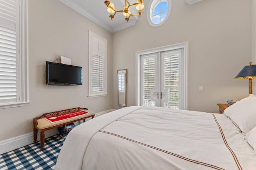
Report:
[[[92,36],[97,37],[98,39],[101,39],[102,41],[104,40],[105,43],[105,57],[104,57],[104,92],[100,93],[92,93]],[[88,98],[96,98],[96,97],[103,97],[107,96],[107,39],[93,33],[92,31],[88,31]]]

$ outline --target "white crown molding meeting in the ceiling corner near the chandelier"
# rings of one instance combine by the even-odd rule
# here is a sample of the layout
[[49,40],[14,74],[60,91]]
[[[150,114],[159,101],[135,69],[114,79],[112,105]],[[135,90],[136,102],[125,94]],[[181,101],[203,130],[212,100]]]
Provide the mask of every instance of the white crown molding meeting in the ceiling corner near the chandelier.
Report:
[[94,21],[95,23],[97,23],[98,25],[100,25],[101,27],[105,28],[106,30],[110,31],[111,33],[114,33],[116,31],[119,31],[121,29],[130,27],[132,25],[135,25],[136,22],[138,21],[138,18],[136,18],[136,20],[133,21],[129,21],[127,24],[120,24],[120,26],[115,27],[114,29],[110,28],[108,25],[103,24],[100,20],[98,20],[97,18],[95,18],[92,14],[88,13],[86,10],[82,9],[80,6],[78,6],[77,4],[71,2],[70,0],[59,0],[60,2],[64,3],[65,5],[69,6],[70,8],[72,8],[73,10],[75,10],[76,12],[82,14],[83,16],[85,16],[86,18]]

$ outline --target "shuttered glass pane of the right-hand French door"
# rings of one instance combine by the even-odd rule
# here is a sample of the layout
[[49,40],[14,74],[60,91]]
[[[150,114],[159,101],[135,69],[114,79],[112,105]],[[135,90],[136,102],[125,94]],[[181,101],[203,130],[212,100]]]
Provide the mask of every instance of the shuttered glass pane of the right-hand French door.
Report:
[[179,54],[180,51],[164,53],[164,107],[179,109]]

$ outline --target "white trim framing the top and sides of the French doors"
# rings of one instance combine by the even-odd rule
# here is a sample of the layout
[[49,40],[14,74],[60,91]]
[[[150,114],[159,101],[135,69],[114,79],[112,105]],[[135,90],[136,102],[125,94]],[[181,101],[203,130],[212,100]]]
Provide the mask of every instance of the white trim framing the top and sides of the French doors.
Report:
[[187,110],[188,109],[188,41],[183,42],[183,43],[177,43],[174,45],[168,45],[164,47],[157,47],[153,49],[147,49],[143,51],[136,51],[136,74],[135,74],[135,104],[136,106],[140,106],[140,56],[141,55],[146,55],[146,54],[151,54],[151,53],[158,53],[160,51],[169,51],[169,50],[174,50],[174,49],[184,49],[184,59],[182,59],[181,63],[182,64],[182,70],[181,74],[183,77],[182,80],[182,87],[181,87],[181,104],[183,109]]

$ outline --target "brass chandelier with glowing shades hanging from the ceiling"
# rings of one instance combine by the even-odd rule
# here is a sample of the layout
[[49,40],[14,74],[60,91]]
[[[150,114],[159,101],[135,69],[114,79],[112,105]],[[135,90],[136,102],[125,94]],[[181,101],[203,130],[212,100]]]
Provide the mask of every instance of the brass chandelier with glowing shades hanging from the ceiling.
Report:
[[[126,16],[125,20],[126,22],[128,22],[130,20],[130,16],[141,16],[142,12],[141,10],[144,8],[144,4],[143,4],[144,0],[137,0],[136,3],[134,4],[130,4],[128,2],[128,0],[125,0],[125,6],[123,10],[115,10],[114,7],[114,3],[113,2],[109,2],[108,0],[106,0],[104,3],[107,6],[107,11],[110,13],[109,18],[111,18],[111,20],[114,18],[114,16],[116,15],[117,12],[123,12],[124,16]],[[130,11],[130,6],[136,5],[136,10],[139,10],[138,14],[132,14]],[[114,15],[113,15],[114,13]]]

